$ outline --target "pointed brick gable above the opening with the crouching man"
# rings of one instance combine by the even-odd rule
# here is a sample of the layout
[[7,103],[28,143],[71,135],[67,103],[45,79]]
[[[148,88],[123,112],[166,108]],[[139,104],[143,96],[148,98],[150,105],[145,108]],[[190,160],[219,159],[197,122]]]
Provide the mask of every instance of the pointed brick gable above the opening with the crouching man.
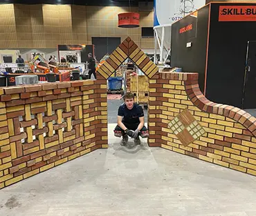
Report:
[[138,66],[149,79],[158,72],[158,67],[130,37],[127,37],[127,39],[112,52],[107,61],[100,66],[98,72],[102,77],[108,79],[128,57],[134,61],[136,66]]

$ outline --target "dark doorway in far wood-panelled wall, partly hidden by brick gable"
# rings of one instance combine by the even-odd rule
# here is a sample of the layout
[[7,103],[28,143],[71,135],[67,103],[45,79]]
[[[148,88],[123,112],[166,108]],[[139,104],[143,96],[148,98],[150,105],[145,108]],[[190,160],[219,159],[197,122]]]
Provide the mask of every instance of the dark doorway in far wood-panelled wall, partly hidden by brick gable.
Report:
[[120,37],[92,37],[92,42],[95,48],[95,57],[100,61],[104,55],[111,55],[113,50],[121,43]]

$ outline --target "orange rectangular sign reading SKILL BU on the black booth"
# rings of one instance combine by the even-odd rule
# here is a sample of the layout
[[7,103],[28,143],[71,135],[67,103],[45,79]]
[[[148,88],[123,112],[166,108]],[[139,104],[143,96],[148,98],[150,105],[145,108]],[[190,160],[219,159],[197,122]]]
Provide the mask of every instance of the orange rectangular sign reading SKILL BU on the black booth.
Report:
[[219,21],[256,21],[256,6],[219,6]]

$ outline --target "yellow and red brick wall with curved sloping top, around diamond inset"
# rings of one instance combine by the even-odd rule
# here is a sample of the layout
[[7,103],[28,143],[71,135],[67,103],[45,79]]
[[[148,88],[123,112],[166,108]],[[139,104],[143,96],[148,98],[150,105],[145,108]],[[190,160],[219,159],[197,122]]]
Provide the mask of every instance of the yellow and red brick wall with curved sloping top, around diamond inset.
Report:
[[[205,132],[188,146],[168,126],[188,109]],[[256,119],[206,99],[196,73],[159,72],[149,80],[149,146],[256,175]]]

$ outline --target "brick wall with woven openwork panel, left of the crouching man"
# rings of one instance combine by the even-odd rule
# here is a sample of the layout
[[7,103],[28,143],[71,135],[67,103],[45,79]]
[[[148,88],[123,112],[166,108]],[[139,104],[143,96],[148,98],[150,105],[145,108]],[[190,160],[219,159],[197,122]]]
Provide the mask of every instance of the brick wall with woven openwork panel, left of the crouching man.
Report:
[[0,88],[0,188],[107,148],[106,89],[101,75]]

